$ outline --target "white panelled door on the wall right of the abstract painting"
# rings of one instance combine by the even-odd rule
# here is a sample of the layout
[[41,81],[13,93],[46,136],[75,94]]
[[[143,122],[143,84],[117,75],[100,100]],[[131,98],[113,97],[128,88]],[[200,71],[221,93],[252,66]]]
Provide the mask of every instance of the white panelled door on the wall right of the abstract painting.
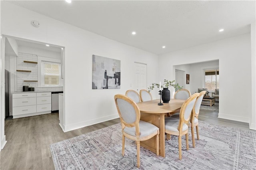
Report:
[[141,89],[147,89],[147,65],[143,63],[135,64],[135,91],[140,93]]

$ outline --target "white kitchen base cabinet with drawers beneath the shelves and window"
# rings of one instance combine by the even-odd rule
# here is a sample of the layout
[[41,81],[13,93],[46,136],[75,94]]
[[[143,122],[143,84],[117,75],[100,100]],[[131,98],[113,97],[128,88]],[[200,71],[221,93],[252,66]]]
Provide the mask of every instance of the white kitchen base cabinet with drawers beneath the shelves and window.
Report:
[[12,94],[13,118],[51,113],[51,92]]

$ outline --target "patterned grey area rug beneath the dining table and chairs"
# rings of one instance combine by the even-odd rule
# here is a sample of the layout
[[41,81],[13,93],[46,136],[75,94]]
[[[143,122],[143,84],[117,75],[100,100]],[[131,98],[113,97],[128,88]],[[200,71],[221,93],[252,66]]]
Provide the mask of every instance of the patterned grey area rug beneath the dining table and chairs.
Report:
[[[255,170],[256,132],[236,128],[199,124],[200,140],[186,150],[182,137],[182,160],[178,159],[178,138],[166,141],[166,157],[156,156],[140,148],[140,169],[192,169],[192,170]],[[122,157],[121,125],[116,124],[50,145],[56,169],[129,170],[136,167],[135,142],[126,139]]]

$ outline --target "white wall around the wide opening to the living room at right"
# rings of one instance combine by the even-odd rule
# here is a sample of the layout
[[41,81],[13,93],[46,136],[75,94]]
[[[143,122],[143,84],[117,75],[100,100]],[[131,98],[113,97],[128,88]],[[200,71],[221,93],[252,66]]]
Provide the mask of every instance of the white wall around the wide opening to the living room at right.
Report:
[[163,73],[162,78],[172,75],[170,79],[174,79],[173,65],[217,59],[221,73],[219,117],[249,123],[252,87],[250,34],[161,55],[160,73]]

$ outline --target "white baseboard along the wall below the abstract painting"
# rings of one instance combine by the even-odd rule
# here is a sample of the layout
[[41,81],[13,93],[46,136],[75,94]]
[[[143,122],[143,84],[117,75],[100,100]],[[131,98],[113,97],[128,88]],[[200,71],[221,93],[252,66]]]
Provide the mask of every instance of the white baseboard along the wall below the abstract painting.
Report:
[[116,119],[118,117],[119,117],[119,115],[115,114],[115,115],[110,115],[110,116],[106,116],[106,117],[101,117],[101,118],[98,118],[98,119],[92,119],[90,121],[84,121],[84,122],[80,122],[80,123],[76,123],[76,124],[72,124],[72,125],[66,125],[64,127],[60,126],[60,127],[62,128],[63,132],[68,132],[70,130],[75,130],[75,129],[78,129],[78,128],[87,127],[87,126],[94,125],[94,124],[97,124],[97,123],[101,123],[101,122],[109,121],[109,120],[112,120],[112,119]]

